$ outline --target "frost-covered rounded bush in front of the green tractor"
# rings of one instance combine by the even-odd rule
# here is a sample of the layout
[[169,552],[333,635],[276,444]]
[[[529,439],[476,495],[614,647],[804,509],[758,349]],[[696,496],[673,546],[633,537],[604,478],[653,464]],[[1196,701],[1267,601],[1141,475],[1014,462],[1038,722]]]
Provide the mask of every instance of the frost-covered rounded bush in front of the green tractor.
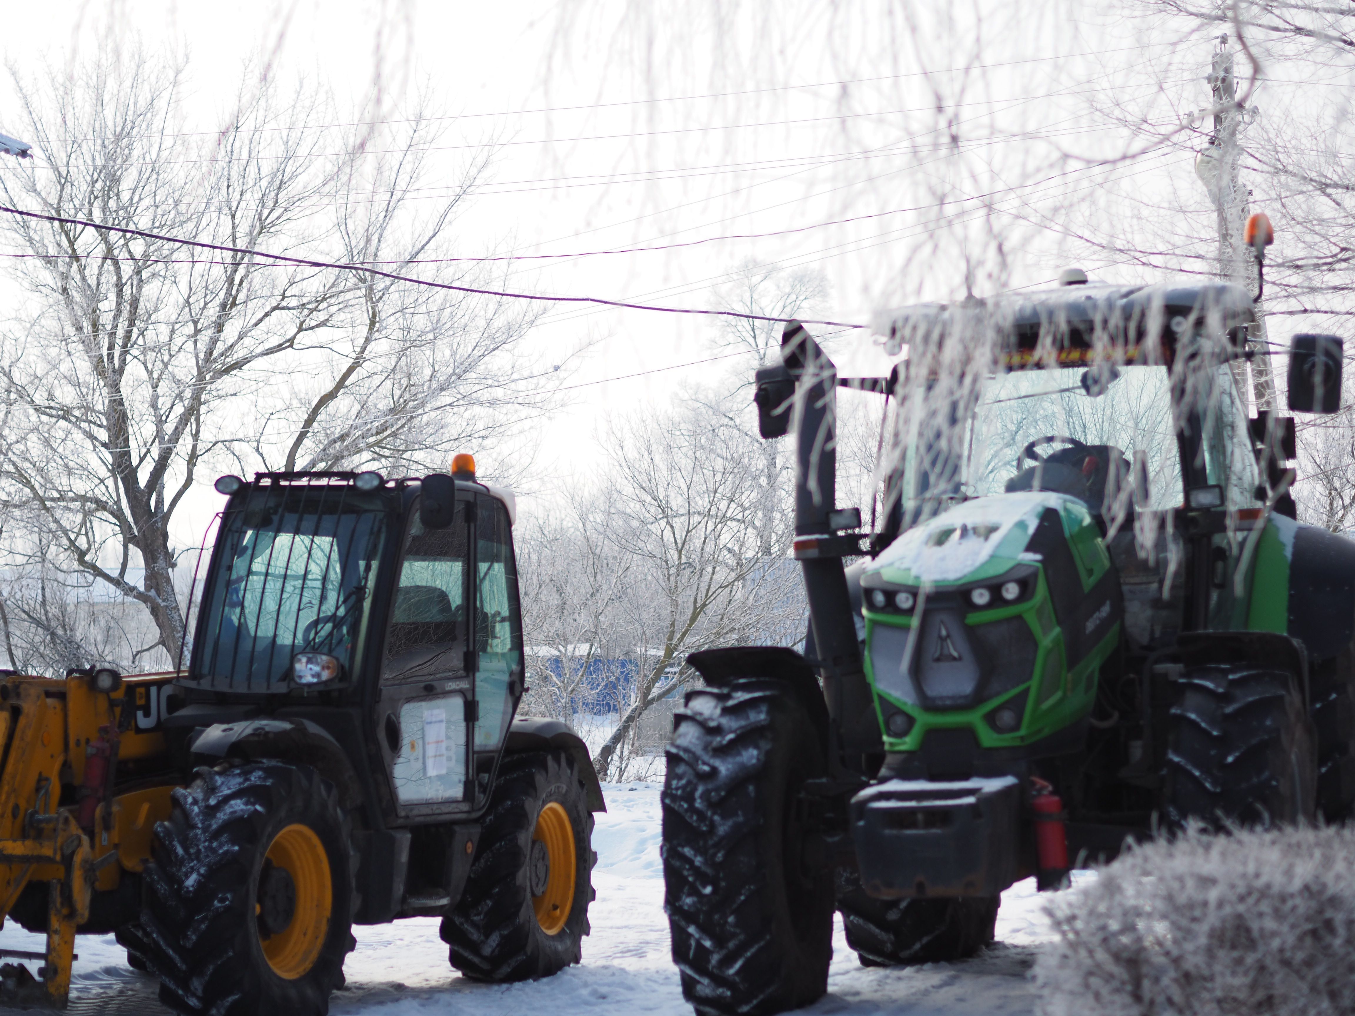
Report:
[[1192,832],[1047,906],[1041,1016],[1355,1012],[1355,830]]

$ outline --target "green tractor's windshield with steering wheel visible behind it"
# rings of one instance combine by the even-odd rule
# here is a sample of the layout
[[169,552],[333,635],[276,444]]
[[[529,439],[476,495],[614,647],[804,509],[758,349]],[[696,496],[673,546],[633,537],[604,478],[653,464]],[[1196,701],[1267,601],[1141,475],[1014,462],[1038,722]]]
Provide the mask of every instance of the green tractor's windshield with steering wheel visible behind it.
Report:
[[1148,507],[1182,503],[1167,367],[1012,371],[984,386],[963,492],[1061,490],[1102,512],[1135,469],[1146,470]]

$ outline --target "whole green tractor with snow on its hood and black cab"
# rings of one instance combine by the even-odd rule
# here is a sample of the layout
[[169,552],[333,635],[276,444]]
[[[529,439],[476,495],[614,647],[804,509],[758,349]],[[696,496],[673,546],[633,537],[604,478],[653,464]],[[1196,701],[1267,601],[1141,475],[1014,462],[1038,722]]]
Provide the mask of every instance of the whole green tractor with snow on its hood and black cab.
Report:
[[[821,996],[835,910],[866,966],[954,960],[1018,879],[1351,814],[1355,543],[1294,520],[1252,298],[1080,282],[886,316],[889,378],[797,322],[757,371],[810,630],[690,657],[663,858],[698,1013]],[[1295,336],[1290,409],[1335,410],[1340,375]],[[877,532],[835,505],[839,386],[894,400]]]

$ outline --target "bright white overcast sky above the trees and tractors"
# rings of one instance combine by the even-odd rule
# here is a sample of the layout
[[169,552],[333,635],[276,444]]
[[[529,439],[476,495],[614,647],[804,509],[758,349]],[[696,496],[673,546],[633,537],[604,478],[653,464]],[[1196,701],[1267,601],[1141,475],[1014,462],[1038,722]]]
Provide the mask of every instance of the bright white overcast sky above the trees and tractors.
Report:
[[[186,45],[192,114],[205,126],[215,125],[241,62],[260,46],[275,54],[279,73],[310,73],[355,102],[378,79],[379,54],[388,110],[423,85],[440,112],[459,117],[443,144],[503,145],[461,219],[461,255],[575,253],[810,226],[680,251],[527,261],[509,278],[524,291],[706,308],[728,270],[757,257],[821,267],[833,287],[827,317],[863,322],[883,305],[962,295],[963,259],[984,261],[974,251],[989,221],[1004,241],[1009,284],[1047,282],[1073,257],[1115,276],[1057,229],[1034,229],[1009,213],[1056,194],[1083,202],[1104,186],[1104,171],[1057,161],[1057,153],[1115,149],[1114,131],[1091,129],[1087,102],[1152,99],[1135,68],[1148,53],[1169,56],[1140,49],[1152,26],[1065,0],[920,5],[928,9],[904,15],[920,19],[911,26],[897,15],[832,24],[818,12],[828,7],[56,0],[11,4],[4,51],[24,73],[42,58],[79,60],[110,23],[150,51]],[[730,12],[718,31],[711,9]],[[980,22],[982,33],[973,27]],[[1182,58],[1196,70],[1168,83],[1179,89],[1168,104],[1183,108],[1207,102],[1201,79],[1209,41],[1190,46]],[[981,69],[967,76],[950,73],[976,62]],[[966,150],[963,165],[900,152],[906,142],[943,140],[935,133],[938,93],[955,103],[948,126]],[[9,108],[8,81],[0,81],[0,131],[14,130]],[[1038,140],[1028,140],[1033,131]],[[1011,140],[1018,133],[1027,140]],[[440,154],[449,183],[457,157],[451,148]],[[1140,190],[1194,187],[1206,205],[1188,158],[1148,160],[1125,175],[1122,186]],[[965,200],[1009,187],[989,218]],[[942,192],[962,225],[928,234]],[[923,206],[927,213],[897,211]],[[816,225],[860,215],[875,218]],[[986,283],[980,272],[976,291],[989,291]],[[542,475],[568,482],[572,470],[593,463],[607,413],[642,412],[686,385],[744,377],[747,362],[721,360],[593,383],[711,356],[711,333],[699,318],[557,305],[534,337],[547,360],[585,339],[593,345],[570,379],[587,386],[570,393],[572,404],[535,442]],[[844,374],[888,366],[864,332],[839,340],[836,355]],[[201,519],[211,497],[190,517]]]

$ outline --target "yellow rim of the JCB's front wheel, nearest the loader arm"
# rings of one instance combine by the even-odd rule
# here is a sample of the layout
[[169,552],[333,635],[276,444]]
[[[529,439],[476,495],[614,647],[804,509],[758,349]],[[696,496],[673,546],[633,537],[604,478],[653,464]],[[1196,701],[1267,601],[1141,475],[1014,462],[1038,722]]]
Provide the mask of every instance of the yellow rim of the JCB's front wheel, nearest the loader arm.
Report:
[[[333,909],[329,856],[320,837],[309,826],[298,824],[289,825],[274,837],[267,858],[291,876],[297,902],[287,927],[268,937],[260,931],[259,943],[272,971],[295,981],[314,966],[329,935],[329,913]],[[255,913],[259,913],[257,902]]]

